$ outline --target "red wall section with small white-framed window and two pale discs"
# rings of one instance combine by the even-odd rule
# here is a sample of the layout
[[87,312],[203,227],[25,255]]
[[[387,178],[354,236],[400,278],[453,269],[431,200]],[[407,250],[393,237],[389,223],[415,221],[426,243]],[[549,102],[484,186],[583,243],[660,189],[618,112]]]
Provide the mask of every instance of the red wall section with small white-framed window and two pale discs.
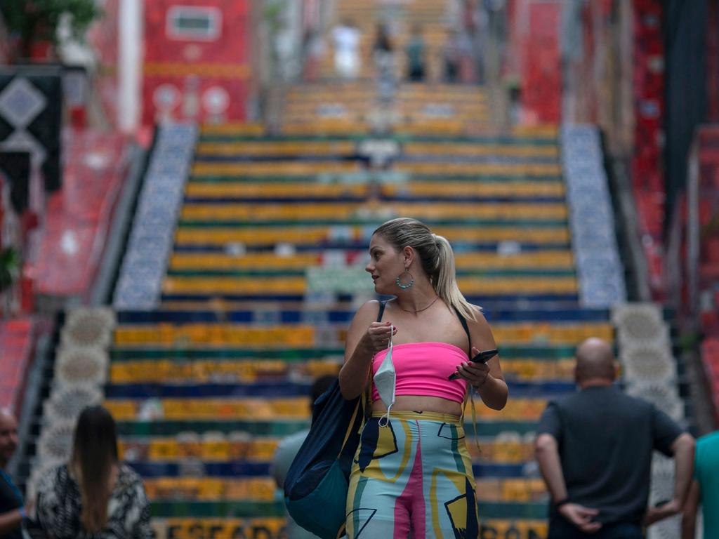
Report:
[[[200,9],[214,32],[176,34],[178,9]],[[187,13],[187,11],[186,11]],[[211,123],[247,116],[250,16],[247,0],[145,2],[142,123]]]

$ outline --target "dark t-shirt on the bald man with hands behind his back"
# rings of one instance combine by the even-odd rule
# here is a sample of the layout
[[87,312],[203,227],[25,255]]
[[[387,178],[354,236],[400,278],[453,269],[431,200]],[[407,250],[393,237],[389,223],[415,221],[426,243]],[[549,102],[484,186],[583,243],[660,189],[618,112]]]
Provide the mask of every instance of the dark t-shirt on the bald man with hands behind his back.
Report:
[[682,428],[618,387],[588,387],[552,401],[539,434],[557,439],[569,499],[599,510],[598,522],[639,522],[646,512],[651,453],[671,456]]

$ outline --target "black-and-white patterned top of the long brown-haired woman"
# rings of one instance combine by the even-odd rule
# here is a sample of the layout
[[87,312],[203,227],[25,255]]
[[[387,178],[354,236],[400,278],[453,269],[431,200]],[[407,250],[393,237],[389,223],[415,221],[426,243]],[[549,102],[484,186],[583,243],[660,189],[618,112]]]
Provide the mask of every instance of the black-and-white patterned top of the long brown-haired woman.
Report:
[[122,464],[108,502],[107,525],[98,533],[83,529],[81,494],[63,464],[37,486],[37,521],[53,539],[151,539],[150,504],[139,475]]

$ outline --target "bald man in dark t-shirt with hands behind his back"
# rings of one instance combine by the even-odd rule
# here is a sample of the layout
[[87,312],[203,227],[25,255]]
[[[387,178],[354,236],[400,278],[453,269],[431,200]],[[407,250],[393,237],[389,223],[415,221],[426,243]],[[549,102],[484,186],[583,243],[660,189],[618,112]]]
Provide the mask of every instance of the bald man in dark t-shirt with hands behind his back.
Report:
[[[615,386],[610,344],[577,347],[580,391],[549,402],[535,454],[551,494],[547,539],[641,539],[642,527],[682,510],[692,478],[694,438],[654,405]],[[674,456],[674,498],[647,507],[651,453]]]

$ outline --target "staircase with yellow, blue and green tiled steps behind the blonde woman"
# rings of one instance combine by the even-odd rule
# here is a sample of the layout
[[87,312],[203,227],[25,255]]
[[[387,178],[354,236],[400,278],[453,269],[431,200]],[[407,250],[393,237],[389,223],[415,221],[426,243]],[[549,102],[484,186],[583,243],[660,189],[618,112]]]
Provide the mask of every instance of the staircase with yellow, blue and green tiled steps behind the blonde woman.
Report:
[[[478,409],[482,524],[544,536],[536,420],[549,397],[573,390],[574,346],[613,340],[608,312],[577,300],[557,134],[470,137],[460,126],[377,139],[354,123],[334,135],[308,125],[199,135],[160,307],[118,313],[106,387],[159,537],[193,526],[279,536],[273,450],[306,426],[312,377],[341,364],[352,313],[372,295],[372,230],[398,215],[452,241],[459,285],[485,308],[510,384],[505,410]],[[383,167],[365,152],[377,140],[394,144]]]

